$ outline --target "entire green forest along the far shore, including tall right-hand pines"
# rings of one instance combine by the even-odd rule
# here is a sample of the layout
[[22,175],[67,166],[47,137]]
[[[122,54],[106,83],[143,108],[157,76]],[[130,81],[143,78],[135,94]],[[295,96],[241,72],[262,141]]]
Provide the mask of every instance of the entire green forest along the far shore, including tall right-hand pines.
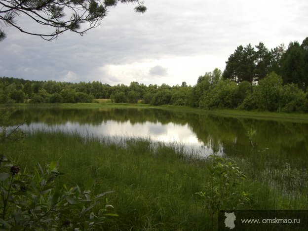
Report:
[[215,69],[200,76],[194,86],[111,86],[99,81],[57,82],[0,77],[0,103],[88,103],[111,99],[115,103],[186,105],[202,109],[243,109],[272,112],[308,112],[308,38],[273,49],[263,42],[238,46],[224,72]]

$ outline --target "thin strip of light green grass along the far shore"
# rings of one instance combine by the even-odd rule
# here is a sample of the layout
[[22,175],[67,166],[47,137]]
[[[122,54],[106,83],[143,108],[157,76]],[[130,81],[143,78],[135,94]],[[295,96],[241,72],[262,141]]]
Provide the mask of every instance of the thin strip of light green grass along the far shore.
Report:
[[[188,106],[173,106],[173,105],[162,105],[153,106],[149,104],[142,104],[138,102],[137,104],[129,103],[112,103],[111,100],[97,100],[96,103],[77,103],[77,104],[13,104],[17,108],[25,107],[39,107],[39,108],[52,108],[60,107],[67,109],[99,109],[99,108],[154,108],[162,109],[168,111],[176,111],[180,113],[195,113],[199,115],[214,115],[214,116],[226,116],[226,117],[244,117],[244,118],[255,118],[255,119],[265,119],[265,120],[281,120],[281,121],[291,121],[291,122],[308,122],[308,114],[304,113],[277,113],[277,112],[258,112],[258,111],[243,111],[243,110],[231,110],[231,109],[216,109],[212,111],[206,111],[199,108],[192,108]],[[0,107],[6,107],[5,105],[0,105]]]

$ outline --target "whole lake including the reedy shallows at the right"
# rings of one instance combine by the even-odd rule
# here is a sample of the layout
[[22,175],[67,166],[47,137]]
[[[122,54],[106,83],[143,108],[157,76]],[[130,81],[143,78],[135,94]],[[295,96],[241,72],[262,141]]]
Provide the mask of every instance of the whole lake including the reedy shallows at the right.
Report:
[[252,177],[284,192],[308,185],[308,123],[235,118],[160,109],[18,109],[10,125],[35,132],[61,130],[113,141],[141,137],[164,142],[188,155],[236,159]]

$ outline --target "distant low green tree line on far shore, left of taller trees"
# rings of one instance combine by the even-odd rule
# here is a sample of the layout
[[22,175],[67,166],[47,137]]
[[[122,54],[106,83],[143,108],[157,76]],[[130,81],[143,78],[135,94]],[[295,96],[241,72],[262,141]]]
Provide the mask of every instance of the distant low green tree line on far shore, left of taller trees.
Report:
[[172,87],[167,84],[147,86],[135,81],[129,86],[111,86],[99,81],[71,83],[0,77],[0,103],[90,103],[93,99],[111,99],[115,103],[142,100],[154,105],[186,105],[191,89],[186,82]]

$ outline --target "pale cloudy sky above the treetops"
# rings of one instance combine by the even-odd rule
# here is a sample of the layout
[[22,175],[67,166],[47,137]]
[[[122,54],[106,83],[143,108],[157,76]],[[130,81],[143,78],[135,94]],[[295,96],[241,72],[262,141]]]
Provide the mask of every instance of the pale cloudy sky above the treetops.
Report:
[[[82,37],[65,32],[45,41],[2,27],[0,77],[67,82],[194,85],[225,69],[237,46],[268,49],[308,37],[307,0],[144,0],[147,12],[118,4]],[[39,30],[27,18],[26,28]],[[0,24],[1,27],[1,24]]]

